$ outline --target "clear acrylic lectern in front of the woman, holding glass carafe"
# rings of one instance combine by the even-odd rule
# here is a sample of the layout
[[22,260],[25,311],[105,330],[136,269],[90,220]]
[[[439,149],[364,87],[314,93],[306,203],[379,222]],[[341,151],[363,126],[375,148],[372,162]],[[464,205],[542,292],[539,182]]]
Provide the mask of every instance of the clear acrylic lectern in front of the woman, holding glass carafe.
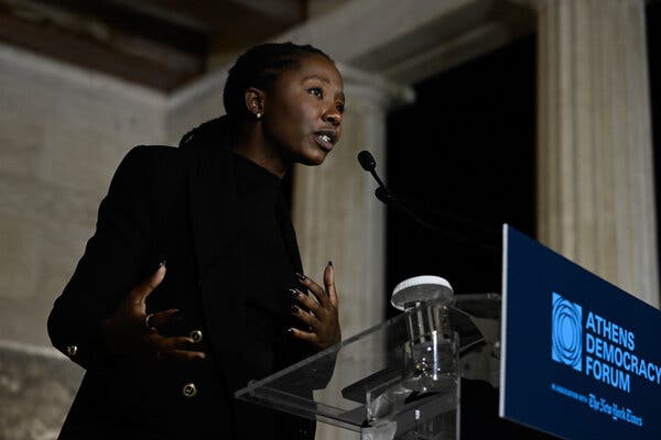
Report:
[[449,290],[404,302],[397,317],[236,397],[362,439],[459,439],[460,377],[498,384],[500,295]]

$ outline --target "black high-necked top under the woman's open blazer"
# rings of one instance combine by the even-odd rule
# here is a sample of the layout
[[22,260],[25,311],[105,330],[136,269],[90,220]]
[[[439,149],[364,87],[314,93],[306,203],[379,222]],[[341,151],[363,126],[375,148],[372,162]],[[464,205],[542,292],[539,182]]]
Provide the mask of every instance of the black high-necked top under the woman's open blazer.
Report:
[[266,168],[232,154],[237,184],[239,231],[245,250],[243,352],[248,380],[260,380],[284,367],[285,329],[291,326],[294,262],[283,230],[290,218],[281,179]]

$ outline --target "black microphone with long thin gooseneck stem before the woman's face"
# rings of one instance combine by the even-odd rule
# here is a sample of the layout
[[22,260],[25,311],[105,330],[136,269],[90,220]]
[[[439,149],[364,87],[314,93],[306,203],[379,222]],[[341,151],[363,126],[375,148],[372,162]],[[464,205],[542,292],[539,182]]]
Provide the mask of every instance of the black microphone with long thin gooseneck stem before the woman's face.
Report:
[[[360,153],[358,153],[358,162],[360,163],[360,166],[362,167],[362,169],[365,169],[366,172],[369,172],[372,177],[375,178],[375,180],[377,182],[377,184],[379,184],[379,187],[375,190],[375,196],[377,197],[377,199],[379,199],[381,202],[383,202],[387,206],[397,208],[399,210],[401,210],[402,212],[404,212],[405,215],[408,215],[410,218],[412,218],[413,220],[415,220],[415,222],[418,222],[419,224],[421,224],[422,227],[432,230],[433,232],[438,232],[442,233],[446,237],[453,238],[455,240],[459,240],[463,241],[465,243],[469,243],[473,245],[477,245],[480,246],[483,249],[487,249],[489,251],[499,253],[499,249],[485,244],[480,241],[477,241],[475,239],[470,239],[467,238],[460,233],[457,232],[452,232],[448,231],[446,229],[440,228],[437,224],[432,224],[425,220],[423,220],[413,208],[426,211],[426,212],[432,212],[438,217],[444,217],[446,220],[451,220],[451,221],[455,221],[457,224],[459,224],[460,227],[473,227],[473,228],[477,228],[477,229],[483,229],[483,232],[488,232],[489,235],[494,235],[494,239],[500,239],[500,233],[499,231],[492,230],[492,228],[481,224],[481,223],[477,223],[470,219],[464,219],[459,216],[456,215],[452,215],[452,213],[447,213],[447,212],[440,212],[437,210],[432,210],[429,207],[421,207],[420,202],[416,202],[414,200],[410,200],[409,198],[404,198],[401,197],[399,195],[394,195],[392,194],[387,187],[386,184],[383,184],[383,180],[381,180],[381,178],[379,178],[379,175],[377,174],[377,161],[375,161],[375,157],[371,155],[370,152],[368,152],[367,150],[361,151]],[[491,237],[489,238],[491,239]],[[490,241],[490,240],[489,240]]]

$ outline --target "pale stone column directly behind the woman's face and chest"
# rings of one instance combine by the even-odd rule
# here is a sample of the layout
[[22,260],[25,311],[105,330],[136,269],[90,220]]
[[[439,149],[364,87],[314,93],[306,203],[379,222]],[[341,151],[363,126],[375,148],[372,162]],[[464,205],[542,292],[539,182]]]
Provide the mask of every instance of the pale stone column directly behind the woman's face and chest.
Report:
[[[391,106],[412,101],[413,92],[346,66],[339,68],[347,96],[343,139],[323,165],[295,168],[292,208],[306,274],[321,283],[326,263],[333,261],[346,339],[383,321],[388,295],[386,209],[375,198],[377,184],[362,170],[357,155],[370,151],[377,172],[386,177],[386,113]],[[382,348],[373,349],[377,354]],[[343,383],[342,375],[337,367],[333,381]],[[356,436],[325,424],[317,427],[319,440]]]

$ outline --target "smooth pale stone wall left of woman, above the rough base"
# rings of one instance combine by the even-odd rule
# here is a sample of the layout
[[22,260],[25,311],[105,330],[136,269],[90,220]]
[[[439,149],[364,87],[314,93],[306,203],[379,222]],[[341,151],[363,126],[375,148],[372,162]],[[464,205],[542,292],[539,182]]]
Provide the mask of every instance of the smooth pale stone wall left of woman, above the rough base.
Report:
[[162,141],[164,99],[0,46],[0,340],[48,345],[46,318],[121,157]]

